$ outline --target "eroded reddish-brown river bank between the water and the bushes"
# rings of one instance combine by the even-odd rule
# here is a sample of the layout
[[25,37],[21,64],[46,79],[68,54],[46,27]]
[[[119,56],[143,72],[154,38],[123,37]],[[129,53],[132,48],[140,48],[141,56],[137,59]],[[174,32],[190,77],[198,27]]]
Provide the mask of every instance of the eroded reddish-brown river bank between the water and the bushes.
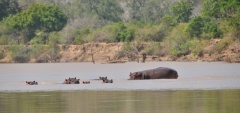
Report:
[[[209,51],[209,48],[218,43],[216,40],[206,46],[205,51]],[[58,62],[102,62],[102,63],[125,63],[125,62],[144,62],[143,53],[144,48],[149,46],[143,44],[138,53],[130,55],[123,54],[119,57],[119,53],[122,52],[123,43],[88,43],[82,45],[58,45],[59,55],[56,58],[47,56],[45,59],[31,58],[26,63],[58,63]],[[0,59],[0,63],[16,63],[11,59],[11,52],[9,47],[1,46],[4,50],[3,58]],[[171,55],[149,55],[146,54],[145,62],[159,62],[159,61],[178,61],[178,62],[229,62],[240,63],[240,44],[239,42],[233,43],[226,47],[221,52],[204,52],[201,55],[193,55],[189,53],[181,56]]]

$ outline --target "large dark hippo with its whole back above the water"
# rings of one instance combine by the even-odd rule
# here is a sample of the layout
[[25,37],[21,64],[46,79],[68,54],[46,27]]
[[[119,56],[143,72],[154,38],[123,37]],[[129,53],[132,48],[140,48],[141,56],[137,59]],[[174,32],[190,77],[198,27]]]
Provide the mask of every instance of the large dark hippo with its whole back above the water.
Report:
[[158,67],[144,71],[130,73],[129,80],[142,79],[177,79],[178,73],[176,70],[167,67]]

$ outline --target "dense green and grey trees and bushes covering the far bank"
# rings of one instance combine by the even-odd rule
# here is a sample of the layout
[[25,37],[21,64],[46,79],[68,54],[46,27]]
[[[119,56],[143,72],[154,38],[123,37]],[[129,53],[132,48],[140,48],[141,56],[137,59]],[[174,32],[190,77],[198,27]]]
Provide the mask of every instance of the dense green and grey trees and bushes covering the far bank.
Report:
[[147,54],[181,56],[228,38],[221,51],[240,37],[239,0],[0,0],[0,6],[0,44],[12,45],[19,62],[57,58],[57,44],[149,42]]

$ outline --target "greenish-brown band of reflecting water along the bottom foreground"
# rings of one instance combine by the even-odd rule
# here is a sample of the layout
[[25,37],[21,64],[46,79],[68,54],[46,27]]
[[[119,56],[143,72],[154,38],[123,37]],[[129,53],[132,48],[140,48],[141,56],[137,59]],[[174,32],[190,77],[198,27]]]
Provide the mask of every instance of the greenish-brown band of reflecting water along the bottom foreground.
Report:
[[0,92],[3,113],[237,113],[240,90]]

